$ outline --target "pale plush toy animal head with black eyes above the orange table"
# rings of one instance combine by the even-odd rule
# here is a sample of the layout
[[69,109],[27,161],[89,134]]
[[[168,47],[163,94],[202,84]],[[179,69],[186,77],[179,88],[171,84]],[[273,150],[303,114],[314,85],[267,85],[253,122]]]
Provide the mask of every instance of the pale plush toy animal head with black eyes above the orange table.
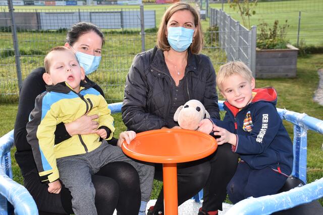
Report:
[[200,101],[193,99],[176,110],[174,121],[178,121],[179,126],[183,129],[196,130],[199,122],[205,117],[209,118],[210,116],[204,105]]

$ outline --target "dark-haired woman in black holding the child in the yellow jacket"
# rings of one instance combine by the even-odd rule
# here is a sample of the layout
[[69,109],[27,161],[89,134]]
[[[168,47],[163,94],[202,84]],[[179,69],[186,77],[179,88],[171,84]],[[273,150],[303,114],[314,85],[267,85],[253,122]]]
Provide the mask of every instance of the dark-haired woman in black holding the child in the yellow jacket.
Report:
[[[89,75],[99,66],[103,44],[103,33],[98,27],[81,22],[73,25],[67,33],[65,46],[75,52],[86,75]],[[48,192],[48,185],[40,182],[32,150],[26,139],[26,124],[34,108],[35,98],[45,91],[45,82],[42,79],[44,73],[44,67],[36,68],[24,80],[20,89],[14,131],[17,148],[15,158],[24,178],[24,186],[34,198],[39,214],[69,214],[73,213],[69,190],[63,186],[59,194]],[[85,81],[88,80],[86,77]],[[93,88],[103,95],[99,86],[95,85]],[[73,135],[95,133],[98,127],[98,122],[95,121],[97,118],[97,115],[83,115],[71,123],[57,125],[55,144]],[[122,140],[113,139],[109,143],[117,145],[118,141]],[[107,164],[92,175],[92,182],[95,187],[95,206],[98,214],[113,214],[115,208],[118,214],[138,214],[141,199],[139,176],[130,164],[124,162]]]

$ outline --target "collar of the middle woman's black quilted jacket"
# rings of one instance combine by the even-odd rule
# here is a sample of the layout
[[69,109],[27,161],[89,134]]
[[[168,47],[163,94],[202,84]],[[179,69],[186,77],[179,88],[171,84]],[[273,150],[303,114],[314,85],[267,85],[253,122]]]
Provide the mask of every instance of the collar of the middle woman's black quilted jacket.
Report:
[[[165,71],[168,70],[166,62],[165,62],[165,56],[164,51],[161,49],[157,49],[155,52],[155,56],[153,57],[151,61],[151,66],[154,68],[158,68],[158,71],[165,73]],[[191,53],[190,49],[188,48],[188,54],[187,54],[187,66],[185,69],[185,74],[188,71],[194,71],[194,73],[197,74],[197,64],[196,64],[196,58],[194,54]]]

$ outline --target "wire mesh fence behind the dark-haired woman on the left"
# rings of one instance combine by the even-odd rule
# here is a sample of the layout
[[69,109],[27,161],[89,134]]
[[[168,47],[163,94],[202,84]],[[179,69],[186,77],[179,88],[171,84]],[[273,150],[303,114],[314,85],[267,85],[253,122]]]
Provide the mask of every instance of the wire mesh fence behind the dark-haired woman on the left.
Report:
[[[8,11],[5,7],[0,6],[0,11]],[[43,66],[43,58],[50,48],[64,45],[67,29],[79,21],[90,21],[103,31],[102,61],[89,78],[103,89],[109,102],[122,100],[126,75],[134,55],[153,47],[152,41],[155,41],[153,35],[145,35],[145,30],[149,31],[147,28],[155,27],[154,11],[144,11],[143,6],[104,11],[36,12],[13,11],[10,4],[8,7],[11,7],[9,13],[0,14],[0,97],[6,99],[17,100],[19,86],[25,77],[33,69]],[[13,23],[18,24],[13,26]],[[150,39],[152,36],[153,40]]]

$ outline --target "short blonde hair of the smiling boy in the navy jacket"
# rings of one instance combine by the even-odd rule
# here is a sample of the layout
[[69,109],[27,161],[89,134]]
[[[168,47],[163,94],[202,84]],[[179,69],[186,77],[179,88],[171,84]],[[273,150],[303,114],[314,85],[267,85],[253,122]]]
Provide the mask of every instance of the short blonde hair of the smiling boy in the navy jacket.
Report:
[[245,78],[251,83],[252,72],[249,67],[241,61],[230,61],[222,66],[218,71],[217,75],[217,86],[220,91],[222,91],[222,84],[225,82],[229,77],[233,75],[240,75],[241,77]]

